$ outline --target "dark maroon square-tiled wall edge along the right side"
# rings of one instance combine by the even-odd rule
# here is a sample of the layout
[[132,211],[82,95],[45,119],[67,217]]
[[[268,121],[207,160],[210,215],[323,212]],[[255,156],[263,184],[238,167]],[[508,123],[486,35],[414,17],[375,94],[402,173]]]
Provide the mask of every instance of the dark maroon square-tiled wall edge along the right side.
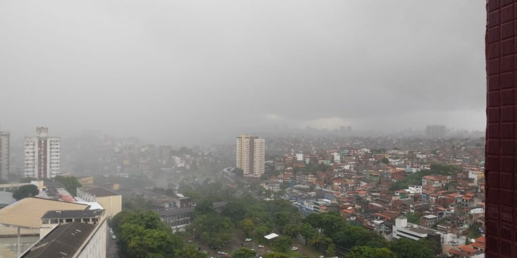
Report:
[[486,55],[486,257],[517,257],[515,0],[489,0]]

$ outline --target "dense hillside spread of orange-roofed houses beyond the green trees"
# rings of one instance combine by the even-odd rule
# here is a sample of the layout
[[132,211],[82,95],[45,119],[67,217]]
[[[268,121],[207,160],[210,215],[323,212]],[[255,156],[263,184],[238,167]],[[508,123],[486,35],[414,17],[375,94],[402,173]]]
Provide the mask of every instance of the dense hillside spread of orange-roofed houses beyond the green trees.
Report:
[[337,212],[387,239],[433,238],[448,257],[483,257],[483,157],[479,145],[293,150],[269,157],[261,185],[302,216]]

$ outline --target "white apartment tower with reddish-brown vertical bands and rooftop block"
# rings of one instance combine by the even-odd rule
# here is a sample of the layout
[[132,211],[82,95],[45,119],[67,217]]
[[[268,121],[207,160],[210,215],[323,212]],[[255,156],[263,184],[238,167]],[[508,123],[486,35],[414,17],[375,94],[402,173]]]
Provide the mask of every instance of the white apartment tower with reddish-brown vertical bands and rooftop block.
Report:
[[41,180],[59,173],[60,139],[48,133],[47,127],[37,127],[36,137],[25,137],[25,176]]

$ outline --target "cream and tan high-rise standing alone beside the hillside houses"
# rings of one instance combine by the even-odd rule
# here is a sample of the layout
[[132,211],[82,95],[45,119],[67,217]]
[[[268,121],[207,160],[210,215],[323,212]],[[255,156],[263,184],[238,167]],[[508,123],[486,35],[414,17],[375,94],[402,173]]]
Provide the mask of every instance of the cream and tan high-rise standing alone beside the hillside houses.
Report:
[[244,176],[260,178],[266,163],[266,140],[241,135],[237,137],[236,143],[236,167],[244,171]]

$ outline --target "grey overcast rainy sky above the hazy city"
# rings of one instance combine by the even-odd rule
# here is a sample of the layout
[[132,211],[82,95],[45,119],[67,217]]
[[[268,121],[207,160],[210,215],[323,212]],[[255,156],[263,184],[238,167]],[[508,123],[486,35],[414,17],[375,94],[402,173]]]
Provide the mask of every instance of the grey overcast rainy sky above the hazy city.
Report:
[[485,21],[485,0],[1,1],[1,129],[483,130]]

